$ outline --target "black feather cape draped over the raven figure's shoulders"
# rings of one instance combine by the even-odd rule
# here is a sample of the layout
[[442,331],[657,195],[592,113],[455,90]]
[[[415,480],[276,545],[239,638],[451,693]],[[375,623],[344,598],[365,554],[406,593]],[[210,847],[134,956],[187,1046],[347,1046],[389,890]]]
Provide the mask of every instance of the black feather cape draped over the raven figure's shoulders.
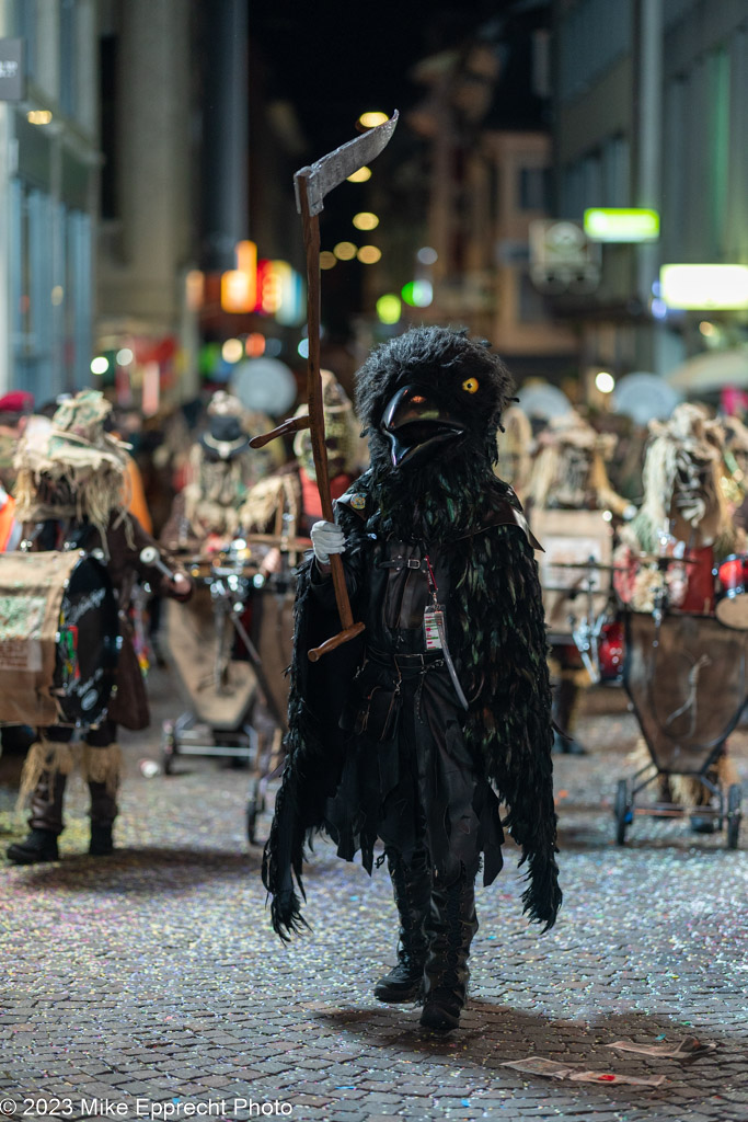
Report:
[[[375,461],[355,484],[366,496],[366,519],[341,506],[347,554],[371,548],[372,534],[449,545],[447,634],[458,674],[482,688],[465,715],[469,747],[506,808],[504,825],[521,847],[527,886],[524,911],[553,926],[561,905],[555,861],[553,743],[547,642],[537,565],[517,524],[491,524],[490,513],[511,488],[497,479],[487,458],[461,457],[408,475],[408,485]],[[271,922],[283,939],[306,926],[302,917],[305,848],[324,831],[325,807],[340,782],[345,735],[338,727],[363,640],[344,644],[317,663],[310,647],[340,629],[314,595],[313,558],[301,567],[290,670],[287,758],[265,849],[262,881],[271,894]],[[355,589],[351,589],[355,615]],[[295,883],[294,883],[295,882]],[[305,896],[304,896],[305,899]]]

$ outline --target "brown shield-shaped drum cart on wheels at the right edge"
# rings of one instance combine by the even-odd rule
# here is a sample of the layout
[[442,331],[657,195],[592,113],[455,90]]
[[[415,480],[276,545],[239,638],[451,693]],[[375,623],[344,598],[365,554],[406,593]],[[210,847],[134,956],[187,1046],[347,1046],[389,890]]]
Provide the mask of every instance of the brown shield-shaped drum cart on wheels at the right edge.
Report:
[[[742,789],[724,789],[713,767],[746,703],[748,632],[711,615],[667,611],[664,604],[654,613],[627,611],[625,631],[624,688],[652,758],[618,781],[616,843],[625,844],[637,815],[648,815],[687,817],[694,833],[724,830],[728,849],[737,849]],[[695,780],[708,802],[636,806],[641,791],[671,776]]]

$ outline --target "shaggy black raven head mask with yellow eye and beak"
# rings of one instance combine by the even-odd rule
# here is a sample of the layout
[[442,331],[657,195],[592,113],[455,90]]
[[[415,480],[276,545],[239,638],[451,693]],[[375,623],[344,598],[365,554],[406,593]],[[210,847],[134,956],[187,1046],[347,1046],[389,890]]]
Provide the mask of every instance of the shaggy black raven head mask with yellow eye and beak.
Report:
[[413,328],[377,348],[357,375],[355,404],[375,475],[497,459],[511,376],[487,342],[449,328]]

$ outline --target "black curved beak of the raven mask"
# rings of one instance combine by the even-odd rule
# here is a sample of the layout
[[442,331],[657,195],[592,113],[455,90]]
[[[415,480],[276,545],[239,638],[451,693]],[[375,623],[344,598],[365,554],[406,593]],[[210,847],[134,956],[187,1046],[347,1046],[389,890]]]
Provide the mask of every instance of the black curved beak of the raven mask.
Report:
[[389,399],[381,417],[390,442],[393,467],[425,460],[436,448],[464,436],[465,426],[422,386],[404,386]]

